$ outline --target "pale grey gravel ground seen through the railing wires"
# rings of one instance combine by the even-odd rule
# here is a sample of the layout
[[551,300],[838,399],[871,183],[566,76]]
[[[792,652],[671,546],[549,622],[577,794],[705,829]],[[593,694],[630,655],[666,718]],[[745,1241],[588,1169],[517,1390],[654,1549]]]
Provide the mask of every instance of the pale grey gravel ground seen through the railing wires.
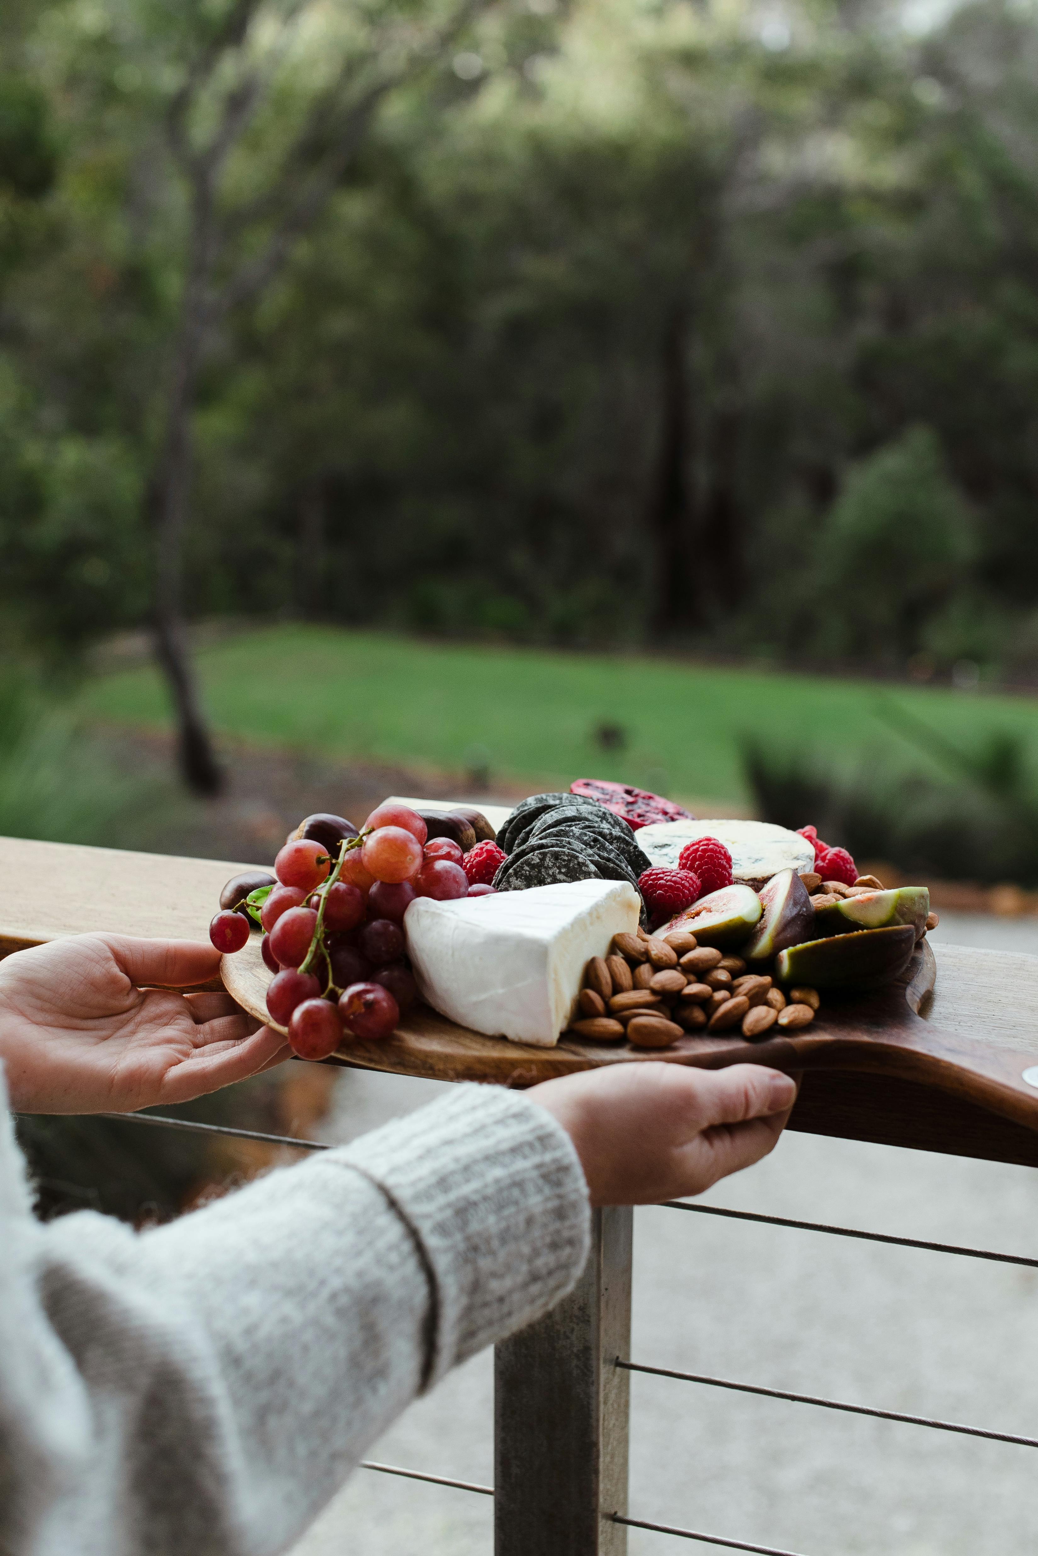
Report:
[[[940,935],[1038,954],[1033,921],[949,913]],[[359,1134],[439,1091],[347,1074],[327,1137]],[[705,1203],[1038,1257],[1038,1175],[1024,1167],[787,1134]],[[635,1217],[632,1354],[649,1365],[1038,1436],[1036,1315],[1038,1271],[677,1211]],[[1033,1551],[1035,1450],[668,1379],[632,1385],[635,1517],[806,1556]],[[492,1397],[486,1354],[370,1456],[486,1484]],[[630,1531],[632,1556],[686,1548]],[[294,1556],[419,1550],[490,1556],[490,1498],[358,1472]]]

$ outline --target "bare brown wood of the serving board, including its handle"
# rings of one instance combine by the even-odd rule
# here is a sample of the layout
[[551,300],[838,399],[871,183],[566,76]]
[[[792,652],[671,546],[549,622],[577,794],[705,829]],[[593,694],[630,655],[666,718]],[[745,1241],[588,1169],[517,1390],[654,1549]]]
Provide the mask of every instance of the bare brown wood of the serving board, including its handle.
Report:
[[[269,1022],[266,988],[271,972],[260,955],[258,940],[252,937],[244,951],[224,957],[221,971],[226,988],[238,1004]],[[896,982],[870,994],[825,996],[814,1022],[789,1036],[747,1043],[739,1035],[703,1038],[689,1033],[668,1049],[585,1043],[573,1035],[563,1035],[554,1049],[540,1049],[481,1036],[419,1005],[391,1038],[344,1044],[330,1063],[428,1080],[475,1080],[520,1088],[601,1064],[646,1060],[700,1069],[749,1063],[781,1071],[859,1071],[935,1088],[1038,1130],[1035,1050],[1005,1044],[994,1047],[924,1021],[920,1011],[929,1005],[935,974],[934,952],[923,940],[907,972]],[[1024,1072],[1030,1074],[1033,1085],[1022,1078]]]

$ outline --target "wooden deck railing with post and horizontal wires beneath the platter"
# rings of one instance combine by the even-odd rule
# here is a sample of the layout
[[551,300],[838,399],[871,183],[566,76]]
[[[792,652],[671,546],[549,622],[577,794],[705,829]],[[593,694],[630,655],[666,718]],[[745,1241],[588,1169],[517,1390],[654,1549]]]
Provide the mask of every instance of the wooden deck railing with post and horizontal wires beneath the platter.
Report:
[[[0,954],[58,935],[110,930],[135,935],[202,937],[219,887],[237,870],[229,862],[131,854],[101,848],[0,839]],[[1038,958],[959,946],[934,946],[937,988],[929,1015],[949,1032],[1035,1053],[1038,1063]],[[923,1011],[928,1015],[928,1011]],[[126,1117],[128,1127],[235,1131],[154,1114]],[[974,1105],[910,1081],[831,1072],[805,1077],[791,1128],[917,1150],[1038,1165],[1038,1133]],[[324,1150],[317,1142],[244,1131],[251,1139]],[[850,1237],[876,1245],[1038,1268],[1038,1260],[984,1248],[951,1246],[876,1231],[789,1221],[717,1206],[672,1206],[677,1212],[733,1215],[742,1221]],[[576,1291],[546,1318],[506,1340],[495,1355],[495,1486],[428,1475],[406,1466],[373,1464],[381,1474],[495,1497],[495,1556],[622,1556],[627,1528],[761,1556],[795,1556],[739,1540],[736,1533],[675,1528],[651,1509],[627,1506],[630,1372],[674,1383],[736,1390],[817,1410],[850,1411],[928,1430],[1038,1447],[1038,1439],[721,1379],[647,1368],[630,1355],[632,1212],[599,1211],[594,1245]],[[822,1553],[812,1553],[822,1556]]]

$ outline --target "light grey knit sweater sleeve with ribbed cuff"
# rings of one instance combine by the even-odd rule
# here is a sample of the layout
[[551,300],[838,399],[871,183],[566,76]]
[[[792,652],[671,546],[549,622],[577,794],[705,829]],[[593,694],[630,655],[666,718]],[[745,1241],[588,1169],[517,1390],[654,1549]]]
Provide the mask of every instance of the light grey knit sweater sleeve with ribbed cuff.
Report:
[[39,1225],[3,1113],[0,1550],[283,1551],[416,1394],[574,1285],[588,1235],[568,1136],[496,1088],[143,1234]]

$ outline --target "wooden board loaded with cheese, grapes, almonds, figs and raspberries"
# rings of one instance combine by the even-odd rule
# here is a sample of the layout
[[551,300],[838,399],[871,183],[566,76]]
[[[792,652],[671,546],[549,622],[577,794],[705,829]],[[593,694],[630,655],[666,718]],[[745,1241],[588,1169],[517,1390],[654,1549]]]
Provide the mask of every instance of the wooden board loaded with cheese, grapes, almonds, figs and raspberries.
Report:
[[510,811],[308,817],[272,874],[224,887],[224,985],[300,1058],[506,1086],[644,1060],[856,1071],[1038,1128],[1033,1050],[923,1019],[924,887],[857,876],[811,826],[654,801],[582,780]]

